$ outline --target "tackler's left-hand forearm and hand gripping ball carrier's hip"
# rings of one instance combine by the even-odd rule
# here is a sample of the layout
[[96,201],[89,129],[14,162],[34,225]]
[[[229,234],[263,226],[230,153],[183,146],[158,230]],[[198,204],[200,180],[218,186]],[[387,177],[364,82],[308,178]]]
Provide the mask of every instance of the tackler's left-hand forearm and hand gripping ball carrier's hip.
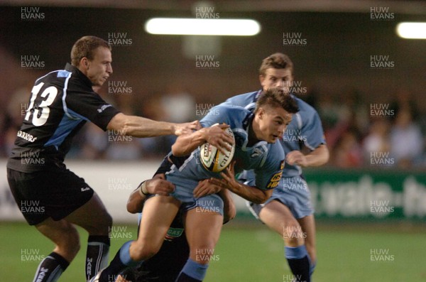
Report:
[[153,179],[145,180],[145,190],[142,190],[142,186],[133,190],[127,200],[127,211],[134,214],[141,212],[143,208],[143,202],[146,200],[148,194],[158,195],[169,195],[175,190],[175,185],[168,180],[165,180],[163,173],[154,175]]

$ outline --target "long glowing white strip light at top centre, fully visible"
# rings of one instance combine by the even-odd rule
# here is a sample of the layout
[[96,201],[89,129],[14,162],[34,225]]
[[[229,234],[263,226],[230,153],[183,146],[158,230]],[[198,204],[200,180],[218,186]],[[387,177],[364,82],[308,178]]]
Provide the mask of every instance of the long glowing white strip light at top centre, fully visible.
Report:
[[151,18],[145,23],[151,34],[185,36],[255,36],[261,31],[257,21],[226,18]]

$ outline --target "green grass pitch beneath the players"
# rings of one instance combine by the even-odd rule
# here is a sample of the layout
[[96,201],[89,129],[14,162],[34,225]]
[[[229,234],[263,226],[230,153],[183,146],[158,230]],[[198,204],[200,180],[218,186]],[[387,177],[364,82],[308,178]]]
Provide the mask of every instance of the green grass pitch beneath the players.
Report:
[[[120,232],[111,239],[110,259],[129,240],[127,237],[136,237],[135,226],[118,226]],[[234,223],[224,227],[204,281],[290,281],[280,237],[261,224],[255,227]],[[23,223],[0,223],[0,230],[1,281],[31,281],[40,256],[49,254],[53,244]],[[82,249],[60,281],[84,281],[87,234],[82,230],[80,234]],[[422,232],[318,224],[317,251],[315,282],[426,281],[426,239]]]

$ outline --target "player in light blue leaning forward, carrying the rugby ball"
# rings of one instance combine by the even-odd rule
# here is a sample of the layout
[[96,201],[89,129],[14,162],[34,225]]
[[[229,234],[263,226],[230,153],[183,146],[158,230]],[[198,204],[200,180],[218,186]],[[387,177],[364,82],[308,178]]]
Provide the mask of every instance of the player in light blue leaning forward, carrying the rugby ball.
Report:
[[[219,105],[200,121],[203,129],[178,137],[172,146],[173,155],[190,157],[180,168],[172,166],[166,173],[166,179],[175,185],[175,191],[170,196],[156,195],[146,200],[137,241],[121,246],[109,267],[92,281],[111,281],[124,269],[156,254],[181,206],[186,210],[185,232],[190,256],[176,281],[202,281],[209,256],[200,257],[198,254],[214,250],[222,229],[223,201],[216,194],[195,198],[195,187],[200,180],[222,177],[224,183],[220,185],[246,200],[258,204],[268,200],[280,180],[285,157],[282,146],[276,141],[297,110],[293,98],[271,89],[258,99],[254,112],[242,107]],[[226,127],[213,126],[217,123],[230,126],[235,136],[234,163],[222,173],[209,172],[202,166],[198,148],[207,141],[209,131],[214,127]],[[223,138],[222,141],[224,144],[232,140]],[[256,174],[252,186],[238,183],[234,178],[234,171],[244,169],[253,170]]]

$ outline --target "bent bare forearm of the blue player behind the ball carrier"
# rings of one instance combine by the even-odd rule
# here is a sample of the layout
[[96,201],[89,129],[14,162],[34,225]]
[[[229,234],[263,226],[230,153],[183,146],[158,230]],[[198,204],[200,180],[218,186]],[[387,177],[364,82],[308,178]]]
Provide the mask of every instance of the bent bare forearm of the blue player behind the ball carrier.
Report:
[[322,166],[329,160],[329,150],[325,144],[321,144],[315,150],[304,155],[300,151],[291,151],[285,156],[285,161],[290,165],[302,166]]

